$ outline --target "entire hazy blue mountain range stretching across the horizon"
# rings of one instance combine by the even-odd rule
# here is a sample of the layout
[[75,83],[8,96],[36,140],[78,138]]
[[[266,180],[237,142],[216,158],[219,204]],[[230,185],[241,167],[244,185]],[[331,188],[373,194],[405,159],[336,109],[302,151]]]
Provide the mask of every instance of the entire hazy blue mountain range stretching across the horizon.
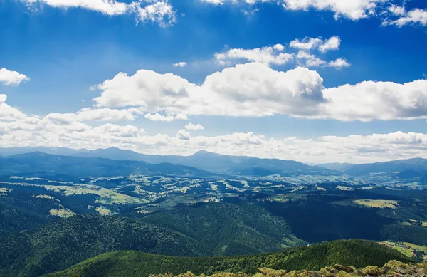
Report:
[[[2,158],[0,157],[0,172],[9,172],[9,174],[14,171],[11,167],[17,168],[18,171],[19,167],[21,167],[23,171],[28,172],[28,166],[31,166],[31,171],[34,172],[35,169],[56,170],[55,168],[59,164],[60,167],[76,169],[82,173],[85,172],[85,169],[90,169],[90,172],[87,172],[90,176],[94,174],[91,173],[93,169],[98,170],[95,170],[95,174],[112,176],[119,173],[129,174],[135,172],[135,169],[138,168],[143,168],[143,172],[166,171],[171,174],[187,174],[198,177],[208,177],[212,173],[256,177],[273,174],[285,176],[289,174],[346,174],[356,177],[378,172],[397,174],[410,171],[406,172],[406,174],[401,174],[400,177],[413,178],[427,173],[427,160],[421,158],[371,164],[330,163],[308,165],[293,160],[220,155],[204,150],[190,156],[146,155],[130,150],[121,150],[117,147],[97,150],[73,150],[64,147],[10,147],[0,148],[0,156],[2,156]],[[38,162],[31,164],[30,160],[34,158]],[[88,159],[85,160],[83,158]],[[23,162],[25,160],[28,162],[27,164]],[[112,162],[112,160],[116,162]],[[120,163],[117,163],[117,161],[120,161]],[[10,162],[14,163],[14,166]],[[40,162],[41,164],[47,164],[43,167]],[[72,165],[73,163],[75,164]],[[157,166],[154,164],[157,164]],[[181,167],[177,167],[178,165]]]

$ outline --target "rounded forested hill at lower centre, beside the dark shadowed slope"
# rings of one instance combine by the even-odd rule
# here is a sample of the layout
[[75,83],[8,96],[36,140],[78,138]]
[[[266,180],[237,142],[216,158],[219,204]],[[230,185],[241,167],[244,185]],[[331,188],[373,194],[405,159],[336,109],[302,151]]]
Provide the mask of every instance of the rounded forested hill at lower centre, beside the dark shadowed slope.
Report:
[[150,214],[142,220],[196,239],[214,256],[257,254],[305,244],[291,234],[285,220],[254,204],[199,204]]

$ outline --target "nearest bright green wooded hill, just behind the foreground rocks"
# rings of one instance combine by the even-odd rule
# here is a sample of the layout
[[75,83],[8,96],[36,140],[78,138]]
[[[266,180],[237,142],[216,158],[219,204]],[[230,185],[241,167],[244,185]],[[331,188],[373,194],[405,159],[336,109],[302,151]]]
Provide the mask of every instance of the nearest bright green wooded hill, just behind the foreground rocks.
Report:
[[[177,258],[144,254],[137,251],[120,251],[90,258],[65,271],[47,276],[148,277],[151,274],[179,274],[186,271],[207,275],[218,271],[255,273],[260,267],[286,269],[288,271],[302,268],[319,270],[336,263],[357,267],[382,266],[389,260],[411,261],[388,246],[373,241],[350,240],[332,241],[271,254],[218,258]],[[239,274],[238,276],[245,275]]]

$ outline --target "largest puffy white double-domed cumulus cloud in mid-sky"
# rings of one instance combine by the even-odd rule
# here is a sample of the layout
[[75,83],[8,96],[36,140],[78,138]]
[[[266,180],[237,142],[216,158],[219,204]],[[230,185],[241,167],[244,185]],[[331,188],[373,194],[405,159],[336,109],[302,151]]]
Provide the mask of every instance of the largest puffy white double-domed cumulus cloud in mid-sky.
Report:
[[170,73],[139,70],[131,76],[119,73],[98,88],[101,95],[93,99],[97,107],[132,105],[168,115],[304,116],[315,114],[323,101],[322,78],[315,71],[275,71],[263,63],[225,68],[201,85]]

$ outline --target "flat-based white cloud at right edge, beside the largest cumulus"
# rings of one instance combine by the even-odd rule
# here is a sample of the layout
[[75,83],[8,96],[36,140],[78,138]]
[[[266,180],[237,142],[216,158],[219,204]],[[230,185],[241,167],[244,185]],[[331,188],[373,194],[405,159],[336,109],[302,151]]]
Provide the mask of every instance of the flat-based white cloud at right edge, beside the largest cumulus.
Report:
[[[427,118],[427,80],[411,83],[366,81],[323,90],[327,118],[337,120],[411,120]],[[322,117],[322,115],[320,115]]]

